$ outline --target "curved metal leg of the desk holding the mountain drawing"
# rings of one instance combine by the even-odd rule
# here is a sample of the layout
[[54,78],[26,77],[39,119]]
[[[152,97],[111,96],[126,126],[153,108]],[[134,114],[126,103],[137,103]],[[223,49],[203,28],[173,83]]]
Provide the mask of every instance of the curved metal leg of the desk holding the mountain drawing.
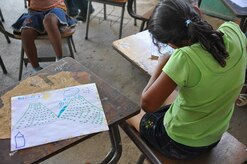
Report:
[[101,163],[115,164],[117,163],[122,154],[122,143],[118,129],[118,124],[113,124],[109,127],[109,136],[111,140],[112,149]]

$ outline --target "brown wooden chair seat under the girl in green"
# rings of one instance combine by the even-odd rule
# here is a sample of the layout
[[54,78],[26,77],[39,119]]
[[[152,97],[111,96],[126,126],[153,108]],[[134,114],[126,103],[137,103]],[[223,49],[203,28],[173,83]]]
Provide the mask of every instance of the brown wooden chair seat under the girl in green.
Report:
[[145,158],[154,164],[243,164],[247,161],[247,147],[228,132],[224,133],[221,141],[209,153],[194,160],[175,160],[150,148],[139,133],[126,122],[122,122],[120,126],[143,153],[137,163],[143,163]]

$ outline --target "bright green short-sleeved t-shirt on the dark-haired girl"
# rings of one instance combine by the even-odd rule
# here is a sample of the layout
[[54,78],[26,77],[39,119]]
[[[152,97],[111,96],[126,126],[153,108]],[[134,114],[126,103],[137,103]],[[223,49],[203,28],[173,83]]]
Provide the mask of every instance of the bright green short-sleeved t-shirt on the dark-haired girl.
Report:
[[245,80],[246,36],[233,22],[218,30],[229,53],[225,67],[197,43],[176,49],[163,68],[179,90],[164,126],[173,140],[187,146],[207,146],[221,138]]

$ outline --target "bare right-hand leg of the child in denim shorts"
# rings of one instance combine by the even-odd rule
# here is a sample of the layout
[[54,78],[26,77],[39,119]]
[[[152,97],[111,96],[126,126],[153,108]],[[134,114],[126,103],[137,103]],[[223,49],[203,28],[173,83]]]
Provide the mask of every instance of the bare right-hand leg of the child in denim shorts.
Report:
[[53,14],[48,14],[44,18],[44,27],[48,34],[48,38],[52,44],[52,47],[58,58],[61,58],[63,55],[62,52],[62,39],[61,33],[58,28],[58,19]]

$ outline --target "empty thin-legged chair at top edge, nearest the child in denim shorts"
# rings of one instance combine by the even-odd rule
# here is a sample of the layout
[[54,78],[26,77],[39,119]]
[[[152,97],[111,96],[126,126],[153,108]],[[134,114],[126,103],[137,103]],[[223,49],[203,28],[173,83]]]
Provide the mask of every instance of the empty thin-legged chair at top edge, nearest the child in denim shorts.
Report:
[[122,37],[122,28],[123,28],[123,19],[124,19],[124,11],[125,4],[128,0],[88,0],[88,8],[87,8],[87,26],[86,26],[86,36],[85,39],[88,39],[88,30],[89,30],[89,22],[90,22],[90,5],[92,2],[103,3],[104,4],[104,20],[106,20],[106,5],[113,5],[122,8],[121,18],[120,18],[120,28],[119,28],[119,39]]

